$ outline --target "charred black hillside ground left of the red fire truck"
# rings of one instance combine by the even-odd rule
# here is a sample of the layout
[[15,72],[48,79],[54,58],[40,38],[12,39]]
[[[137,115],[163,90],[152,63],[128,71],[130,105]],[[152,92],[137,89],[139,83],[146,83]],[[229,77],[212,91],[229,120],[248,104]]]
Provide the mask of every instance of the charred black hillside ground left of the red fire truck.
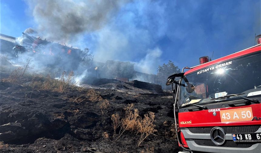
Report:
[[[84,100],[73,103],[71,100],[90,89],[59,93],[1,81],[0,141],[8,144],[8,148],[0,152],[129,153],[148,148],[154,148],[154,152],[180,150],[175,133],[171,131],[174,119],[169,93],[104,88],[103,85],[103,89],[94,89],[110,102],[102,114],[99,102]],[[134,103],[140,116],[149,111],[155,113],[157,132],[145,139],[140,147],[137,147],[140,134],[125,132],[117,141],[111,141],[114,131],[110,117],[112,114],[122,114],[123,108],[130,103]],[[74,110],[79,112],[74,114]],[[103,137],[104,132],[109,134],[109,138]]]

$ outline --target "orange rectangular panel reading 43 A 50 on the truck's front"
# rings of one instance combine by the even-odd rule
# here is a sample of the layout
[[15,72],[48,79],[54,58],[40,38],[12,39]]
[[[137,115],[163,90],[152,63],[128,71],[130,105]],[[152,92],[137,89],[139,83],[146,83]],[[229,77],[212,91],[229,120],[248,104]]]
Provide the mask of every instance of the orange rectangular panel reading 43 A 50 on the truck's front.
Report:
[[252,118],[252,107],[220,110],[221,122],[251,121]]

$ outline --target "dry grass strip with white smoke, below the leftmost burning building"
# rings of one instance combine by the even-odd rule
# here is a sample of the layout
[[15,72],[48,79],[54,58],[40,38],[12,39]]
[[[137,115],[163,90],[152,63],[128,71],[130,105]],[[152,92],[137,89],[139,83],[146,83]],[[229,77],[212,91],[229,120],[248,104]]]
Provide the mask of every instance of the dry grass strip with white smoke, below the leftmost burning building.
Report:
[[66,72],[63,71],[59,79],[53,79],[50,75],[47,75],[47,77],[42,77],[42,79],[44,81],[35,81],[33,78],[29,86],[35,89],[52,90],[57,92],[65,92],[76,89],[73,71],[71,71],[68,75],[66,75]]

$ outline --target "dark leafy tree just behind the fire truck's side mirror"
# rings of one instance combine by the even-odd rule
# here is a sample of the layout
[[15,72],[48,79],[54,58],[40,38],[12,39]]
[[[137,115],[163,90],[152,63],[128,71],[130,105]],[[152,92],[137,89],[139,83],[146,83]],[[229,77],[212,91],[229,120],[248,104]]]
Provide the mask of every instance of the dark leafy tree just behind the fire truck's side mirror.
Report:
[[180,69],[171,60],[168,61],[168,64],[164,63],[158,67],[157,79],[163,89],[170,89],[170,86],[166,86],[167,78],[175,73],[180,73]]

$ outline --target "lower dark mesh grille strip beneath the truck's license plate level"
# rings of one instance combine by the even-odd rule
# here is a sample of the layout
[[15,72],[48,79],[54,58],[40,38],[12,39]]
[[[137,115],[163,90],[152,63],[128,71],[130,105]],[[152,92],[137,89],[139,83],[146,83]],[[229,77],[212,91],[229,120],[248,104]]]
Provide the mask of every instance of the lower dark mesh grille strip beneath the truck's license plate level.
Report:
[[[194,139],[195,143],[201,146],[218,146],[215,145],[211,140],[205,139]],[[232,147],[232,148],[249,148],[253,145],[253,143],[236,143],[234,141],[225,141],[225,143],[220,147]]]

